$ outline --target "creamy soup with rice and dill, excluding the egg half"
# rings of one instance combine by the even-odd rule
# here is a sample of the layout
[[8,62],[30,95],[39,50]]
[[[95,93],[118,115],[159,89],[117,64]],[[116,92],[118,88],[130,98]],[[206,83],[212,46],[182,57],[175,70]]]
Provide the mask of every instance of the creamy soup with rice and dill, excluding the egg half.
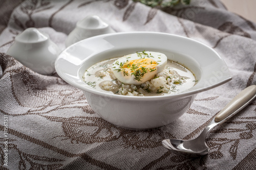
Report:
[[114,63],[117,59],[104,60],[91,66],[84,72],[82,77],[84,83],[106,93],[152,96],[180,93],[193,87],[197,82],[195,75],[189,69],[177,62],[167,60],[164,69],[154,75],[154,78],[141,84],[125,84],[118,80],[113,72],[116,70]]

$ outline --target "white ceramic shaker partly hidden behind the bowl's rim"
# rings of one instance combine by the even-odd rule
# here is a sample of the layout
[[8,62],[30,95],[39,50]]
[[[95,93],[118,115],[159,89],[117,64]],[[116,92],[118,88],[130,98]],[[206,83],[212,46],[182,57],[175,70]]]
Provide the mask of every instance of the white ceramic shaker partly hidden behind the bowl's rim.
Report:
[[115,33],[110,25],[97,15],[89,15],[76,23],[76,28],[68,35],[65,45],[101,34]]

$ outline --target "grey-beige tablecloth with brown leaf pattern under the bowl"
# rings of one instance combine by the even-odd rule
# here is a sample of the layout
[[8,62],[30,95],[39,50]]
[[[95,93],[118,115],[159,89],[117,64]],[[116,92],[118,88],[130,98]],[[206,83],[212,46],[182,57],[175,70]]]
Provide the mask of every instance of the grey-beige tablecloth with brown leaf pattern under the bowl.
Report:
[[[56,74],[42,76],[5,54],[29,27],[49,34],[63,50],[76,22],[91,14],[117,32],[155,31],[201,41],[222,56],[233,79],[199,93],[176,122],[132,131],[105,122],[81,90]],[[191,0],[175,8],[128,0],[6,0],[0,2],[0,18],[2,169],[256,168],[255,100],[208,134],[206,156],[185,158],[161,145],[165,138],[195,138],[236,94],[256,84],[256,25],[218,0]]]

